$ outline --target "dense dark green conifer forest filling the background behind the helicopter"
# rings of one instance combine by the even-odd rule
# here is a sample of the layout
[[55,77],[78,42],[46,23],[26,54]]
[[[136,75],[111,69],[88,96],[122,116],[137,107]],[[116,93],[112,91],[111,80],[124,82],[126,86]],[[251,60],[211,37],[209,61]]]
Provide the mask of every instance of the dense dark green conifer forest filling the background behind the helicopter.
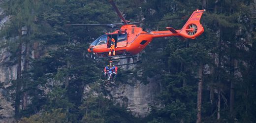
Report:
[[[200,36],[153,39],[138,54],[141,63],[119,68],[116,85],[153,79],[160,86],[147,114],[114,98],[117,87],[100,79],[108,61],[87,51],[115,30],[67,26],[121,23],[109,0],[0,0],[0,97],[8,100],[0,101],[0,122],[256,123],[256,0],[114,2],[126,20],[152,31],[181,29],[194,10],[206,9]],[[15,76],[4,79],[12,74],[3,68]]]

